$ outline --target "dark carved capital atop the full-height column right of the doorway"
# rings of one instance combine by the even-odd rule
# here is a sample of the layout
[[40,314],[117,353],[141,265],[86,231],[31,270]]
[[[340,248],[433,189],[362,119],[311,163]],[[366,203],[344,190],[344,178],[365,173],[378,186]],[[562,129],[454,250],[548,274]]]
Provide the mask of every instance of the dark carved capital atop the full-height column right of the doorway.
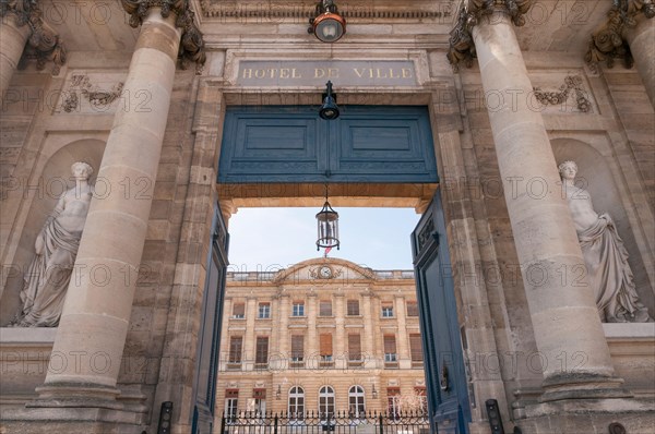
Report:
[[475,56],[473,27],[484,16],[493,12],[507,13],[516,26],[525,24],[523,16],[532,7],[534,0],[468,0],[464,2],[457,15],[455,27],[450,33],[448,60],[456,71],[460,63],[471,68]]

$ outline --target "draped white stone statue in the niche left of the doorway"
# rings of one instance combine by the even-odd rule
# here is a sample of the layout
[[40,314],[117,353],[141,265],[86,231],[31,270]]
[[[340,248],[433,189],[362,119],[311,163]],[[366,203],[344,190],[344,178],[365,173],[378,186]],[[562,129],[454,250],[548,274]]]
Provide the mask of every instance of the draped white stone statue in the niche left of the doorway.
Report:
[[59,324],[93,195],[88,184],[93,168],[78,161],[71,166],[71,172],[75,186],[59,197],[36,237],[36,256],[24,276],[21,291],[23,308],[10,326],[56,327]]

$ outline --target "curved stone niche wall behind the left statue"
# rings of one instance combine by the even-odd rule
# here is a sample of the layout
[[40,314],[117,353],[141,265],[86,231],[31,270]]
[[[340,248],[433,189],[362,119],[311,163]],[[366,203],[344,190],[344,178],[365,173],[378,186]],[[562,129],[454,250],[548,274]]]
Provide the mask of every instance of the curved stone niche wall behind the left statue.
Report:
[[[75,161],[90,164],[94,173],[90,183],[96,181],[100,160],[105,149],[105,142],[99,140],[79,140],[69,142],[59,149],[53,149],[52,155],[41,166],[40,174],[29,176],[28,185],[38,185],[37,189],[20,192],[23,195],[22,209],[14,220],[13,239],[17,239],[15,253],[10,258],[11,267],[8,268],[7,284],[0,291],[0,327],[9,324],[22,308],[20,292],[23,288],[24,274],[27,272],[35,256],[34,242],[47,217],[57,205],[61,193],[75,185],[71,176],[71,165]],[[19,176],[20,177],[20,176]],[[23,194],[24,193],[24,194]]]

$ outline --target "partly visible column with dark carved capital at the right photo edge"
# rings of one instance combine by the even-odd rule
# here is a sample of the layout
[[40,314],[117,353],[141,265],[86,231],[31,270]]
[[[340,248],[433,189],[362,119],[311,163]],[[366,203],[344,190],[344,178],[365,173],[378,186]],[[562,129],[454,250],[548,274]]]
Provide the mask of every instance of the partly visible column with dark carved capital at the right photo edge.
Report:
[[655,1],[615,0],[607,21],[593,34],[585,60],[594,67],[605,61],[614,67],[622,59],[626,68],[636,69],[651,104],[655,106]]

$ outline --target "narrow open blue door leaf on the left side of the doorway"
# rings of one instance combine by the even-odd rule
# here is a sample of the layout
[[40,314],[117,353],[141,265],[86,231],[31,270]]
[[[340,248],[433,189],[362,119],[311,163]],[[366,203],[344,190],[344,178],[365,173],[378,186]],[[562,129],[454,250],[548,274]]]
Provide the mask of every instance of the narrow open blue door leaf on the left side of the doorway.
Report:
[[210,249],[207,257],[207,276],[202,301],[200,341],[193,381],[193,434],[212,433],[214,424],[228,242],[229,236],[223,221],[223,215],[216,205],[212,222],[212,249]]

